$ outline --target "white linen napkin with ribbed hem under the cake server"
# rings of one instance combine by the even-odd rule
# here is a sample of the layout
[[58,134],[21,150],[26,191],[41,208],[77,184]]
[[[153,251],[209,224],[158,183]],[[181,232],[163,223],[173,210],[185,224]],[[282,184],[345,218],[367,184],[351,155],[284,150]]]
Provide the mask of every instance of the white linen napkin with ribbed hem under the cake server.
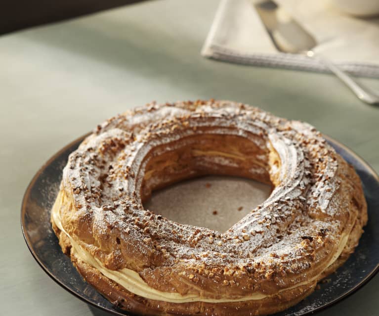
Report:
[[[315,37],[316,53],[353,75],[379,78],[379,18],[348,16],[322,0],[276,2]],[[316,59],[279,52],[251,0],[221,0],[202,55],[256,66],[329,72]]]

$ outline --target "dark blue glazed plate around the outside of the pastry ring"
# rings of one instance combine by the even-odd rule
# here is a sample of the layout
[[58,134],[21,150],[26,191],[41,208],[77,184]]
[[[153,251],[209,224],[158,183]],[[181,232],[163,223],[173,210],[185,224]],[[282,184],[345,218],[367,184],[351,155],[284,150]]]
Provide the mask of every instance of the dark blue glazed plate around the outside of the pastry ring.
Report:
[[[84,137],[72,142],[48,160],[30,182],[21,209],[21,226],[26,243],[42,269],[59,285],[84,302],[115,315],[130,315],[118,309],[102,297],[81,275],[65,256],[51,229],[50,209],[54,203],[61,181],[62,169],[68,155],[75,150]],[[294,307],[277,316],[300,316],[312,314],[329,307],[369,281],[379,270],[379,177],[361,158],[351,150],[327,138],[331,145],[350,164],[362,179],[368,203],[369,222],[365,227],[359,246],[348,261],[333,273],[330,282]]]

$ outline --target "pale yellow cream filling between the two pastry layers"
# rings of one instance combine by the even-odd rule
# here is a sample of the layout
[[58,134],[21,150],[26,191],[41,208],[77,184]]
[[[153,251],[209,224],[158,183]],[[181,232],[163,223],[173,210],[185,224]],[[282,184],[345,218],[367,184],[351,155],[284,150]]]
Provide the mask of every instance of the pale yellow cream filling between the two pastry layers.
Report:
[[[63,199],[63,191],[60,191],[58,194],[58,197],[55,201],[55,204],[51,210],[52,215],[52,221],[54,221],[55,225],[63,231],[70,239],[70,243],[72,245],[71,252],[72,254],[78,259],[83,261],[84,263],[88,264],[89,266],[97,269],[102,274],[104,274],[109,279],[115,281],[116,283],[123,286],[126,290],[128,290],[131,293],[134,293],[136,295],[139,295],[141,297],[151,299],[151,300],[158,300],[158,301],[164,301],[164,302],[170,302],[170,303],[187,303],[187,302],[208,302],[208,303],[223,303],[223,302],[241,302],[241,301],[250,301],[250,300],[261,300],[264,299],[270,295],[266,295],[260,292],[252,293],[248,296],[244,296],[238,299],[228,299],[228,298],[220,298],[220,299],[212,299],[212,298],[205,298],[198,296],[196,294],[186,294],[181,295],[179,293],[173,293],[173,292],[163,292],[159,291],[157,289],[152,288],[149,286],[141,277],[140,275],[130,269],[121,269],[121,270],[110,270],[105,268],[102,263],[95,257],[93,257],[91,254],[89,254],[83,247],[81,247],[72,236],[70,236],[65,229],[62,226],[61,218],[60,218],[60,208],[62,206],[62,199]],[[329,264],[326,266],[329,267],[332,265],[339,255],[341,254],[343,248],[346,245],[346,242],[348,240],[349,234],[342,234],[341,239],[339,241],[338,249]],[[305,285],[307,283],[312,282],[313,280],[317,279],[318,275],[307,280],[304,282],[297,283],[295,286],[288,287],[286,289],[282,289],[279,291],[285,291],[290,290],[296,287],[299,287],[301,285]]]

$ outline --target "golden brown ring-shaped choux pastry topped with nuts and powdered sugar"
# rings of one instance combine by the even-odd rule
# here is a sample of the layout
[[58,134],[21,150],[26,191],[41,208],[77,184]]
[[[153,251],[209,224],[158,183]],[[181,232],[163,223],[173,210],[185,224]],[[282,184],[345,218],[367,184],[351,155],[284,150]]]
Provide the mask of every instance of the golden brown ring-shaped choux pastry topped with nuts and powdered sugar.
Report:
[[[248,177],[275,188],[224,233],[143,209],[152,190],[204,174]],[[367,222],[359,177],[319,132],[228,101],[149,104],[108,120],[70,155],[60,196],[64,230],[109,270],[131,269],[151,288],[200,300],[266,295],[212,303],[154,300],[71,254],[87,282],[110,301],[149,315],[284,310],[348,258]],[[70,238],[52,225],[70,253]]]

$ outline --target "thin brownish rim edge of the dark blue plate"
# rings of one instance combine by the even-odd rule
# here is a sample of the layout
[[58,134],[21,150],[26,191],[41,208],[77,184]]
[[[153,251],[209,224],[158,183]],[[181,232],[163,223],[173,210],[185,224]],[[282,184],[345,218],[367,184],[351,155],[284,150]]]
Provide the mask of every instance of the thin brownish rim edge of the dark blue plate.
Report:
[[[89,299],[86,299],[85,297],[81,296],[79,293],[75,292],[74,290],[72,290],[71,288],[69,288],[65,283],[61,282],[60,280],[58,280],[55,275],[53,273],[51,273],[50,271],[47,270],[47,268],[43,265],[43,263],[41,262],[40,258],[38,257],[38,255],[35,253],[32,245],[31,245],[31,242],[27,236],[27,234],[25,233],[25,231],[27,230],[26,227],[25,227],[25,223],[24,223],[24,218],[25,218],[25,214],[26,214],[26,206],[27,206],[27,197],[30,195],[30,191],[32,189],[32,187],[34,186],[35,182],[37,181],[37,179],[39,178],[39,176],[41,175],[41,173],[46,169],[47,166],[49,166],[51,164],[52,161],[54,161],[57,157],[59,157],[63,152],[65,152],[69,147],[73,146],[75,143],[78,143],[79,141],[83,141],[85,137],[87,137],[88,135],[90,135],[91,132],[89,133],[86,133],[74,140],[72,140],[70,143],[66,144],[65,146],[63,146],[61,149],[59,149],[56,153],[54,153],[40,168],[39,170],[36,172],[36,174],[33,176],[32,180],[29,182],[26,190],[25,190],[25,193],[23,195],[23,198],[22,198],[22,203],[21,203],[21,214],[20,214],[20,222],[21,222],[21,230],[22,230],[22,234],[24,236],[24,240],[26,242],[26,245],[30,251],[30,253],[32,254],[33,258],[37,261],[38,265],[42,268],[42,270],[52,279],[55,281],[55,283],[57,283],[58,285],[60,285],[62,288],[64,288],[66,291],[68,291],[70,294],[74,295],[76,298],[79,298],[81,301],[85,302],[86,304],[89,304],[90,306],[94,306],[96,307],[97,309],[100,309],[102,311],[106,311],[108,313],[113,313],[114,315],[118,315],[118,316],[131,316],[131,315],[135,315],[129,311],[125,311],[125,313],[119,313],[117,310],[109,310],[109,309],[106,309],[105,307],[103,306],[100,306],[98,304],[95,304],[94,302],[92,302],[91,300]],[[328,142],[332,142],[332,143],[335,143],[337,144],[337,146],[341,147],[343,150],[345,150],[346,152],[348,152],[351,156],[353,156],[356,160],[358,160],[369,172],[370,174],[375,178],[375,180],[379,183],[379,176],[378,174],[376,173],[376,171],[362,158],[360,157],[358,154],[356,154],[352,149],[350,149],[349,147],[347,147],[346,145],[344,145],[343,143],[339,142],[338,140],[334,139],[333,137],[329,136],[329,135],[325,135],[325,134],[322,134],[322,136],[328,141]],[[365,278],[363,278],[357,285],[355,285],[354,287],[350,288],[346,293],[340,295],[339,297],[337,297],[336,299],[328,302],[327,304],[323,305],[323,306],[320,306],[318,308],[315,308],[314,310],[311,310],[311,311],[307,311],[303,314],[300,314],[301,316],[306,316],[306,315],[311,315],[311,314],[316,314],[316,313],[319,313],[323,310],[326,310],[328,308],[330,308],[331,306],[333,305],[336,305],[337,303],[343,301],[344,299],[346,299],[347,297],[349,297],[350,295],[352,295],[353,293],[357,292],[358,290],[360,290],[363,286],[365,286],[371,279],[374,278],[374,276],[379,272],[379,263],[376,265],[375,269],[372,270]],[[84,281],[85,282],[85,281]]]

